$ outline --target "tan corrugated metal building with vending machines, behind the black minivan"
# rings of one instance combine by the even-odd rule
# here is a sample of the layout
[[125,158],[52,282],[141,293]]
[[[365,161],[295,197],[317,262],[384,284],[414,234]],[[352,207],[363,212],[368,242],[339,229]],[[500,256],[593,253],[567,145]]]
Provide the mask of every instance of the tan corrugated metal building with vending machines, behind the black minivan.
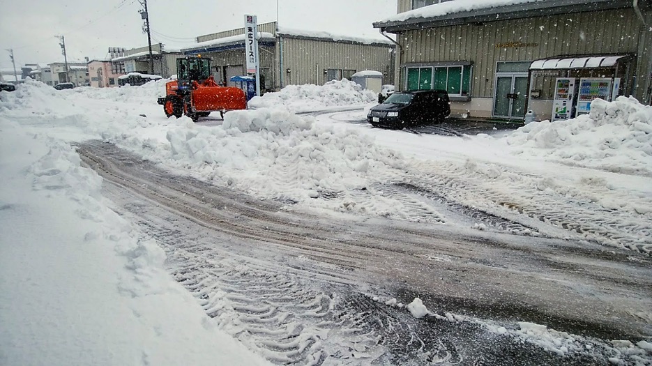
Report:
[[453,114],[495,119],[563,116],[559,98],[566,118],[596,96],[651,103],[649,0],[438,2],[398,0],[374,23],[397,35],[397,90],[447,89]]

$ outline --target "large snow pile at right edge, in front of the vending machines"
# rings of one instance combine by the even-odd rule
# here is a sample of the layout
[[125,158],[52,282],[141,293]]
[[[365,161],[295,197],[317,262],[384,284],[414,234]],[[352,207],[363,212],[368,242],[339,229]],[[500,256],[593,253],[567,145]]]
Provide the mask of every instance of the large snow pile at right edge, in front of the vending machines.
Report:
[[652,107],[635,98],[596,99],[589,115],[529,123],[507,138],[515,153],[568,165],[628,174],[652,174]]

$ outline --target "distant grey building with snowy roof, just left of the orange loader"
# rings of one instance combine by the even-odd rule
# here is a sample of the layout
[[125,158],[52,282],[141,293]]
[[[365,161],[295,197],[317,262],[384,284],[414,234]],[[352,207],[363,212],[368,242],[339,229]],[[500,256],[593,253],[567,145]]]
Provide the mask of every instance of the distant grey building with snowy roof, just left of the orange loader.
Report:
[[[166,50],[160,43],[152,45],[154,75],[167,78],[176,74],[176,59],[181,56],[178,49]],[[114,74],[151,74],[152,64],[150,63],[149,46],[121,49],[119,56],[112,57],[111,62],[113,63],[113,69],[116,71]]]

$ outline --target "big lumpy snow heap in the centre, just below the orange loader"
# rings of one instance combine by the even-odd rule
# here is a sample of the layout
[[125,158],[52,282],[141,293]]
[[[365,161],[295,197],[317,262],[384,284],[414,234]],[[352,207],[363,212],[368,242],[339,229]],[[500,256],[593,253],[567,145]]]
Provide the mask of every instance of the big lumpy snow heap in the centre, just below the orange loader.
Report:
[[[169,158],[198,178],[281,201],[317,204],[314,199],[328,197],[320,203],[336,211],[365,211],[347,204],[347,192],[400,176],[397,169],[406,164],[370,137],[279,109],[229,112],[221,126],[181,125],[167,132],[167,140]],[[151,159],[160,151],[156,155]]]

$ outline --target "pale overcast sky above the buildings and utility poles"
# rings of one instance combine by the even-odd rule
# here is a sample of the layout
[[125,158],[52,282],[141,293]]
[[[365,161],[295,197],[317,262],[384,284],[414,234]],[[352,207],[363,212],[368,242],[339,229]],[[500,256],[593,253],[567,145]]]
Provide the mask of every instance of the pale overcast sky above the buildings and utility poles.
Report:
[[[179,48],[203,34],[243,26],[243,15],[276,20],[276,0],[148,0],[152,43]],[[0,68],[63,61],[104,59],[108,47],[147,45],[138,0],[0,0]],[[278,0],[280,26],[382,38],[372,22],[396,14],[396,0]]]

